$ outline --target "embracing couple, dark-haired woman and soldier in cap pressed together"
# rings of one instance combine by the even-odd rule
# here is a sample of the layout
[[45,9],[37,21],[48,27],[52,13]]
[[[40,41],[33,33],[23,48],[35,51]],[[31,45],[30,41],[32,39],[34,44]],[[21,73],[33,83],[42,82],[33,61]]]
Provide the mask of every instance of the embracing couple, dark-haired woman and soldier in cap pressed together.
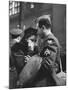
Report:
[[17,87],[45,87],[65,85],[58,78],[60,67],[60,44],[51,32],[52,25],[47,15],[37,19],[36,28],[27,28],[20,41],[25,65],[19,73]]

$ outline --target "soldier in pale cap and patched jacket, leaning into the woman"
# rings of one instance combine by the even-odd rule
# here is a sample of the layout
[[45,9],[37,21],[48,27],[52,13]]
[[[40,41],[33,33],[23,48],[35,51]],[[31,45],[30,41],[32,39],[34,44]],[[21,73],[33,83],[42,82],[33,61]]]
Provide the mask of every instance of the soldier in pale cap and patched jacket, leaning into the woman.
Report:
[[[63,80],[57,79],[57,75],[60,72],[60,44],[51,32],[50,15],[39,17],[37,28],[39,52],[43,59],[41,66],[44,67],[44,72],[47,71],[48,73],[46,77],[52,77],[56,85],[64,85],[65,82],[63,82]],[[59,83],[59,81],[61,82]],[[49,85],[51,84],[52,82]]]

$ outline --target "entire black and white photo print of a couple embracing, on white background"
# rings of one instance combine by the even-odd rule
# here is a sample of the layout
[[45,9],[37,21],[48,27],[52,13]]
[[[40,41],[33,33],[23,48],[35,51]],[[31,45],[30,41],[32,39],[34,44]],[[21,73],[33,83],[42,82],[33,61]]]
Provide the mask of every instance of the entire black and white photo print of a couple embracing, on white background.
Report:
[[8,3],[9,89],[66,86],[66,4]]

